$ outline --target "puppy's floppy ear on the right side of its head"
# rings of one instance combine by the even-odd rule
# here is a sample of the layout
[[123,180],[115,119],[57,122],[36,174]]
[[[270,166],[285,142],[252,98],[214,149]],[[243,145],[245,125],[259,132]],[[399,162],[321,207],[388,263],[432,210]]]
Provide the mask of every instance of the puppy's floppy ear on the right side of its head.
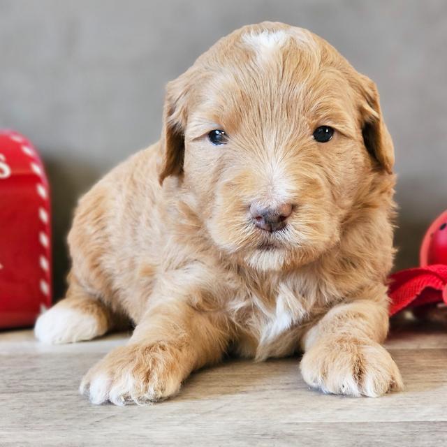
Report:
[[360,115],[365,147],[376,164],[386,173],[393,173],[394,147],[390,133],[383,121],[377,87],[364,75],[360,75]]

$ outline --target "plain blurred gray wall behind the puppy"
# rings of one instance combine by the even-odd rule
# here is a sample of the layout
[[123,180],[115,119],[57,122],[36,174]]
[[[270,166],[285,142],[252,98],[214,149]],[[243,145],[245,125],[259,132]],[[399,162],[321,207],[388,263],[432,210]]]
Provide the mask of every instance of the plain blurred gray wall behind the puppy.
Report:
[[416,265],[447,208],[447,1],[0,0],[0,128],[47,164],[58,294],[76,198],[159,138],[168,80],[262,20],[311,29],[376,81],[397,155],[397,267]]

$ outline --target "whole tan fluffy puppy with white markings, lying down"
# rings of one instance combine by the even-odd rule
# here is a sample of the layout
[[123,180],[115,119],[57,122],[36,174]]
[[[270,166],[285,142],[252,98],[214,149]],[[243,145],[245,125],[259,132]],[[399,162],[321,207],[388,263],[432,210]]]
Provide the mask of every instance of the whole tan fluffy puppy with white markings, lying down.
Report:
[[166,399],[227,352],[302,351],[324,393],[400,390],[381,346],[393,161],[374,83],[327,42],[234,31],[168,84],[161,140],[80,200],[66,298],[36,336],[135,325],[82,380],[94,404]]

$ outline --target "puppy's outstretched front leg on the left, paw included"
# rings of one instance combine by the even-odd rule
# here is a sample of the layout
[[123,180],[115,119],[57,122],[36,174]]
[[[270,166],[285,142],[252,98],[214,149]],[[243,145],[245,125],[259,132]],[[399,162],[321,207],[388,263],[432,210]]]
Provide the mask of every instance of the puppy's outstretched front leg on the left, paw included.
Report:
[[175,395],[194,370],[221,359],[228,330],[212,312],[167,300],[150,308],[127,346],[110,352],[86,374],[80,393],[94,404],[145,404]]

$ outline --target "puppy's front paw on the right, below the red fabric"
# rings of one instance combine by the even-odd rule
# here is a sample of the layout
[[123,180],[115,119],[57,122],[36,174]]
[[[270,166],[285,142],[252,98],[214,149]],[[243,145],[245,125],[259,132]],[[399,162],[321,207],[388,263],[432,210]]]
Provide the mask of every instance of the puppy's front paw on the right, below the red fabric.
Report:
[[324,393],[378,397],[403,388],[393,358],[371,340],[339,337],[317,342],[300,368],[305,382]]

